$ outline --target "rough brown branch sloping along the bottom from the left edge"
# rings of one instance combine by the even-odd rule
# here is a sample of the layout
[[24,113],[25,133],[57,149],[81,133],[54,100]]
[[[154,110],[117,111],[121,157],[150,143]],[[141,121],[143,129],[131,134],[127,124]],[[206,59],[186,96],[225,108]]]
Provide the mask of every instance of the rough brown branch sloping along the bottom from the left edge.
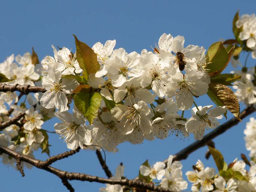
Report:
[[[62,183],[63,183],[63,181],[66,182],[66,180],[79,180],[79,181],[90,181],[90,182],[98,182],[98,183],[120,184],[120,185],[129,186],[129,187],[143,188],[145,190],[151,190],[151,191],[155,191],[155,192],[173,192],[168,189],[163,189],[160,186],[154,186],[154,184],[144,183],[139,180],[108,179],[108,178],[102,178],[102,177],[97,177],[97,176],[92,176],[92,175],[87,175],[87,174],[82,174],[82,173],[62,171],[60,169],[53,168],[52,166],[41,167],[41,166],[38,166],[38,165],[40,165],[40,163],[39,163],[40,160],[31,158],[27,155],[19,154],[15,151],[12,151],[11,149],[1,146],[1,145],[0,145],[0,152],[8,154],[15,159],[20,159],[21,161],[30,163],[31,165],[33,165],[39,169],[44,169],[48,172],[51,172],[52,174],[55,174],[56,176],[61,178]],[[64,183],[64,184],[66,187],[70,187],[67,183]],[[71,188],[69,188],[69,189],[71,189]]]

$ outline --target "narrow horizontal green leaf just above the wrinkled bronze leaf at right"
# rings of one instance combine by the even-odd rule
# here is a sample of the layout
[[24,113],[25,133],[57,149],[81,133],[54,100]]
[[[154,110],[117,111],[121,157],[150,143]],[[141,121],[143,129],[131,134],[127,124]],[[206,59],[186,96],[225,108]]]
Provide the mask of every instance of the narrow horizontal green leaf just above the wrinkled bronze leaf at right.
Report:
[[237,73],[224,73],[211,77],[211,83],[222,84],[222,85],[232,85],[231,83],[239,81],[241,76]]

